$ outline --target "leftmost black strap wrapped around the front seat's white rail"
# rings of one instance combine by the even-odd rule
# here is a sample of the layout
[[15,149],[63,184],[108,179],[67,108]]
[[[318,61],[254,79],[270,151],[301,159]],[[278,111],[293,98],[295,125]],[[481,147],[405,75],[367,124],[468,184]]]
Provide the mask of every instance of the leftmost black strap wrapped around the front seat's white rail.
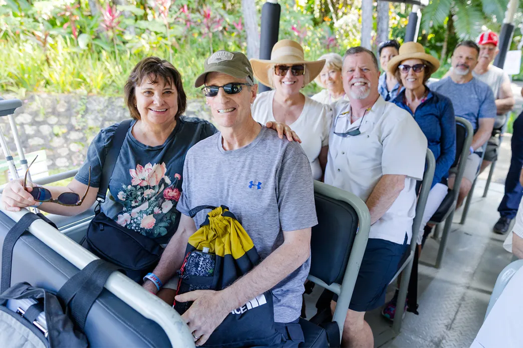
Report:
[[28,229],[33,221],[40,219],[34,213],[27,213],[7,232],[2,246],[2,278],[0,280],[0,293],[11,286],[11,265],[13,262],[13,249],[16,241]]

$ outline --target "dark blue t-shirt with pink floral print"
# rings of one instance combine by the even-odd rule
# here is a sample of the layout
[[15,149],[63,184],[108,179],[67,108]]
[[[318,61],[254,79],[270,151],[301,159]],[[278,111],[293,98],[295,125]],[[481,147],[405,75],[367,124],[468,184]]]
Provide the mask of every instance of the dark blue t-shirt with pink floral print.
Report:
[[[75,177],[79,182],[87,184],[90,166],[90,185],[92,189],[100,186],[102,167],[117,127],[115,124],[102,129],[93,139],[86,161]],[[158,243],[167,243],[179,223],[176,205],[181,194],[185,155],[198,141],[217,130],[199,118],[181,117],[165,143],[152,147],[134,138],[131,128],[101,210],[118,224],[155,238]]]

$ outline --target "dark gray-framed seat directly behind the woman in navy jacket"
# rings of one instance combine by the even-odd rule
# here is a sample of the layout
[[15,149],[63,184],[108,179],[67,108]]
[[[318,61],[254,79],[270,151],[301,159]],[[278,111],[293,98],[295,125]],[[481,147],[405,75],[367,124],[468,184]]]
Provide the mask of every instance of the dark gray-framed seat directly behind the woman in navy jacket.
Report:
[[[439,224],[445,221],[445,227],[441,234],[441,242],[439,244],[438,256],[436,258],[436,268],[441,266],[441,261],[445,254],[447,247],[447,239],[452,226],[452,219],[454,218],[454,211],[456,211],[456,202],[458,200],[459,188],[461,186],[461,179],[465,171],[466,159],[469,155],[469,148],[472,143],[474,131],[469,121],[462,117],[456,117],[456,158],[452,163],[452,168],[457,167],[456,180],[454,188],[449,189],[447,196],[441,202],[438,210],[430,218],[429,223],[436,224],[436,230],[439,229]],[[460,159],[465,159],[461,161]]]

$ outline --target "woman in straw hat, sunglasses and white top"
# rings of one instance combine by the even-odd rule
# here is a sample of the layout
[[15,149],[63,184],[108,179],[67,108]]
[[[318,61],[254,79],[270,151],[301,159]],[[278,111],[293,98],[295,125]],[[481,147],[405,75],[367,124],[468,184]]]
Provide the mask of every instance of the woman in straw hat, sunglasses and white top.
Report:
[[254,77],[273,88],[257,95],[252,106],[254,119],[261,124],[277,121],[291,126],[302,141],[313,177],[320,179],[327,163],[332,111],[301,89],[320,74],[325,60],[306,61],[298,42],[280,40],[272,48],[269,61],[251,59],[251,64]]

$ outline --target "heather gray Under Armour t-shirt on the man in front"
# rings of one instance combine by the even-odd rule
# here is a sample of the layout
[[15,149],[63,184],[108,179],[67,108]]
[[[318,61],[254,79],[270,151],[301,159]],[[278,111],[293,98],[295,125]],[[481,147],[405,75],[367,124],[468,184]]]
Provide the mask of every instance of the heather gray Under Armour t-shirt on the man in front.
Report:
[[[283,243],[282,231],[317,224],[311,166],[298,142],[278,138],[261,128],[249,145],[231,151],[222,147],[221,133],[198,142],[186,155],[183,190],[177,209],[224,205],[251,236],[261,259]],[[196,226],[210,210],[195,217]],[[303,283],[310,258],[272,289],[274,320],[300,316]]]

